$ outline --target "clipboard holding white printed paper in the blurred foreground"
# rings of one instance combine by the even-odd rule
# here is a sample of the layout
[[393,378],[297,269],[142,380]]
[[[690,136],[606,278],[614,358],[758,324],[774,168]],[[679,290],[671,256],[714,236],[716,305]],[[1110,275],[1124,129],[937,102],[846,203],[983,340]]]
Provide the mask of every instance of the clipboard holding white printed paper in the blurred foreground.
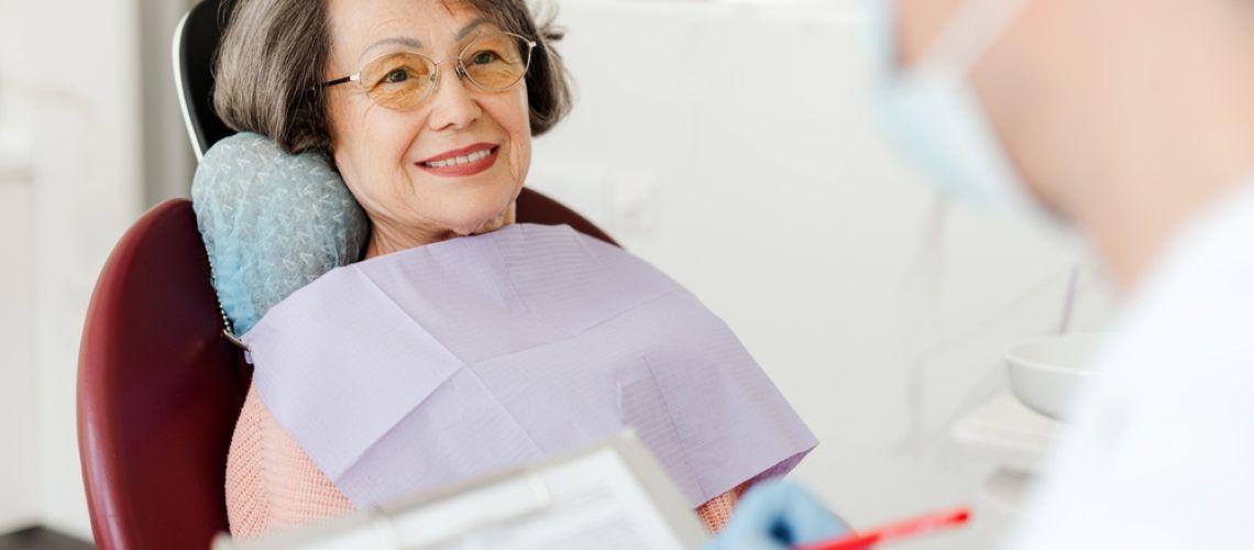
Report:
[[631,430],[588,449],[214,550],[696,549],[710,539]]

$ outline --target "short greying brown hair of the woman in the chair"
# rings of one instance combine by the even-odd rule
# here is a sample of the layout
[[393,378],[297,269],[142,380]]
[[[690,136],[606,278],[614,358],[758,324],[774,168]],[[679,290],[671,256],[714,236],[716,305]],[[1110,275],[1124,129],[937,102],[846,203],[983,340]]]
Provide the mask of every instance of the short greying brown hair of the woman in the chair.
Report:
[[[562,30],[537,25],[525,0],[463,0],[507,33],[539,43],[527,71],[532,134],[571,110],[571,84],[551,44]],[[236,0],[214,60],[213,106],[236,132],[270,137],[288,153],[330,153],[325,69],[331,58],[326,0]],[[448,1],[445,1],[448,4]]]

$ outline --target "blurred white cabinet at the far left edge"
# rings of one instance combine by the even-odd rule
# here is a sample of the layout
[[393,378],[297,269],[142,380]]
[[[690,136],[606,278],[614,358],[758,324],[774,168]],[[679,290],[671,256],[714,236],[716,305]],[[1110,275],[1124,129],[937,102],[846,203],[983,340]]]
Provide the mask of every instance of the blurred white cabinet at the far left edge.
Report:
[[29,135],[0,127],[0,532],[39,520],[33,175]]

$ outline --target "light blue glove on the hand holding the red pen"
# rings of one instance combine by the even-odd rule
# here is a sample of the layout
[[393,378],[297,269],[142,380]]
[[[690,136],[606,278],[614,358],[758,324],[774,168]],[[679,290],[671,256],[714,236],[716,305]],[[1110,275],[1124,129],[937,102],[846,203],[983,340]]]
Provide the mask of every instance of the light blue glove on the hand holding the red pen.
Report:
[[705,550],[788,550],[846,532],[849,527],[809,491],[770,481],[745,495],[731,521]]

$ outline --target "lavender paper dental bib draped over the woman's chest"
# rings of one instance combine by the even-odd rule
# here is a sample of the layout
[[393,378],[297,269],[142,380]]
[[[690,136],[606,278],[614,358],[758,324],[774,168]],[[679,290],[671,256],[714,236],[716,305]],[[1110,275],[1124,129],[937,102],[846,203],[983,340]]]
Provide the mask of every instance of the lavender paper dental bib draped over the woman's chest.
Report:
[[357,507],[627,426],[693,506],[815,446],[722,321],[568,227],[334,269],[243,340],[262,401]]

